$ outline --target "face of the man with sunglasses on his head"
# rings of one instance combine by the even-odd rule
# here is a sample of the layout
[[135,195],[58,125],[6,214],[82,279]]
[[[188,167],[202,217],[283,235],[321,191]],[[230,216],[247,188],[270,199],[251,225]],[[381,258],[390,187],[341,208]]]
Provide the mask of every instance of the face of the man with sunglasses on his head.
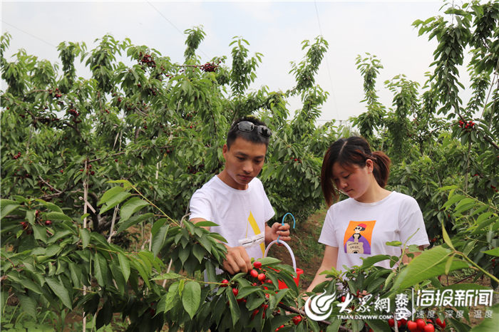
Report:
[[260,170],[262,170],[267,147],[263,143],[249,142],[243,138],[236,138],[230,149],[223,147],[225,170],[222,172],[222,181],[230,187],[245,190],[247,185]]

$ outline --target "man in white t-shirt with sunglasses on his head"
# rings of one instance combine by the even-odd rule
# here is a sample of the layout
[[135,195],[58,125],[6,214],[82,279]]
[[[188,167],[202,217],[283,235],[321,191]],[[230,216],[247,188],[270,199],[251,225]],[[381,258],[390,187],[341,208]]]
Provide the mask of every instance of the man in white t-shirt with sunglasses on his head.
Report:
[[256,118],[241,118],[232,124],[222,148],[225,167],[190,199],[190,221],[209,220],[209,227],[227,240],[223,267],[230,274],[252,269],[251,258],[264,254],[265,244],[280,236],[288,241],[289,224],[275,222],[274,209],[257,178],[262,170],[272,132]]

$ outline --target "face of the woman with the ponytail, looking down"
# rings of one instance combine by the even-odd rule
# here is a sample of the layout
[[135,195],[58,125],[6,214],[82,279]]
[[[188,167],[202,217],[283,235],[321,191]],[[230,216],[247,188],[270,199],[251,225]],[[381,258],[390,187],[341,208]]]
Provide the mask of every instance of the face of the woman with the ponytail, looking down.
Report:
[[339,162],[333,164],[333,180],[336,188],[359,202],[362,202],[371,185],[373,162],[368,159],[365,167],[359,165],[342,166]]

